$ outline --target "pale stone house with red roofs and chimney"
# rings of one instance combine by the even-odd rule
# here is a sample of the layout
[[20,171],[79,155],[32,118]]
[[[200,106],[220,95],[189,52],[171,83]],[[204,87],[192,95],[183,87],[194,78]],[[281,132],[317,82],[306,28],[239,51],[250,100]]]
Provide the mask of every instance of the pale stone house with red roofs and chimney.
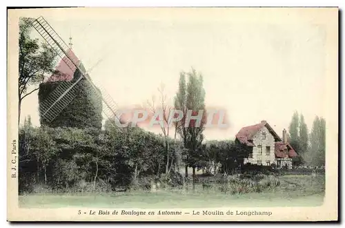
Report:
[[244,163],[269,166],[276,164],[282,168],[292,168],[292,158],[297,157],[296,151],[288,143],[286,130],[283,130],[283,138],[273,130],[265,120],[259,124],[245,126],[236,134],[236,143],[246,144],[253,148],[249,158]]

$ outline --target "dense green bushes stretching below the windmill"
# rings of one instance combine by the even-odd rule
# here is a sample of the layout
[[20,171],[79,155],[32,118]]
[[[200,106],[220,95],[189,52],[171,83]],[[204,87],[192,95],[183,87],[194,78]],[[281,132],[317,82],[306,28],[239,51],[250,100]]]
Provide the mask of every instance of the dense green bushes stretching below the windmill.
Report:
[[29,118],[19,130],[21,193],[35,186],[55,192],[126,190],[140,178],[164,173],[160,135],[139,128],[118,130],[33,127]]

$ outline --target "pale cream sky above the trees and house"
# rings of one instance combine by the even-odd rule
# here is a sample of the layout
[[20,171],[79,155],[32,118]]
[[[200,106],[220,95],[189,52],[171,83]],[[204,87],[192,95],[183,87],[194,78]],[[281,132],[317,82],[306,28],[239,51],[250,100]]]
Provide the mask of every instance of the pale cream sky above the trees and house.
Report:
[[[101,59],[90,76],[121,107],[146,104],[159,95],[160,84],[172,101],[179,73],[195,68],[204,77],[206,108],[225,110],[229,124],[206,129],[206,140],[233,139],[261,120],[282,135],[295,111],[311,129],[315,116],[325,115],[326,29],[298,14],[43,15],[66,44],[72,37],[86,70]],[[36,31],[32,36],[39,37]],[[21,122],[31,115],[39,124],[37,101],[37,93],[23,100]]]

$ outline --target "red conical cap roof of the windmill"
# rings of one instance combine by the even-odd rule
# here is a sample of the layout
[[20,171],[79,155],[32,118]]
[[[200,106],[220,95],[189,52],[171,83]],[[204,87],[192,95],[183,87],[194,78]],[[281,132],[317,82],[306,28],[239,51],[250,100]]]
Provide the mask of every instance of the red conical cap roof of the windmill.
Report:
[[[80,60],[78,57],[73,53],[72,50],[68,50],[67,55],[72,59],[72,61],[77,64],[80,64]],[[57,82],[57,81],[70,81],[73,79],[73,75],[75,74],[75,67],[72,69],[66,64],[68,57],[63,57],[57,65],[55,72],[49,77],[48,82]]]

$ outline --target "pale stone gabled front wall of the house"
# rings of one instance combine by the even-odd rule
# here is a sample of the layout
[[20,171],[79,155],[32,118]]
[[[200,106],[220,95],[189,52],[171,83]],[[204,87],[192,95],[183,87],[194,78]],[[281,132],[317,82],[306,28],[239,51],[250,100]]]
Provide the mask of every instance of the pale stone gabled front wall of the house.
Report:
[[[266,133],[266,139],[262,138],[263,133]],[[266,164],[266,159],[270,161],[270,164],[275,163],[275,138],[268,131],[266,126],[260,129],[253,137],[253,158],[248,158],[244,160],[244,163],[250,162],[251,164],[258,164],[258,160],[262,161],[262,165]],[[258,152],[258,145],[262,145],[262,154]],[[266,146],[270,146],[270,154],[266,155]]]

